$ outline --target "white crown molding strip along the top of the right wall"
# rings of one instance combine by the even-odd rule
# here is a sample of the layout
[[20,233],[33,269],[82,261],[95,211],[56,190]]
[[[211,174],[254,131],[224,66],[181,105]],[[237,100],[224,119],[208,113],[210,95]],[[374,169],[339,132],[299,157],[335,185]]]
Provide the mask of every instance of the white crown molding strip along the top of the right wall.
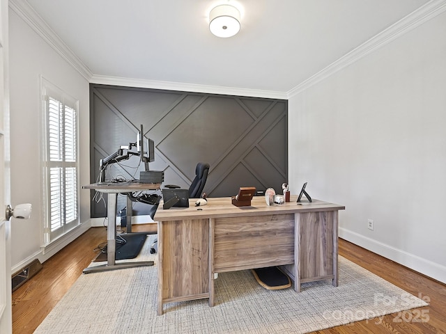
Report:
[[318,82],[327,79],[332,74],[342,70],[345,67],[348,67],[356,61],[359,61],[361,58],[371,54],[371,52],[376,51],[380,47],[387,45],[387,43],[392,42],[392,40],[399,38],[401,35],[408,33],[424,22],[427,22],[433,17],[440,15],[445,10],[446,0],[429,1],[428,3],[424,4],[424,6],[414,10],[406,17],[403,17],[395,24],[392,24],[392,26],[389,26],[387,29],[381,31],[373,38],[367,40],[367,42],[364,42],[359,47],[348,52],[348,54],[342,56],[337,61],[334,61],[334,63],[331,63],[323,70],[314,74],[312,77],[302,81],[301,84],[289,90],[289,92],[286,93],[286,97],[290,98],[302,93],[304,90],[307,90]]

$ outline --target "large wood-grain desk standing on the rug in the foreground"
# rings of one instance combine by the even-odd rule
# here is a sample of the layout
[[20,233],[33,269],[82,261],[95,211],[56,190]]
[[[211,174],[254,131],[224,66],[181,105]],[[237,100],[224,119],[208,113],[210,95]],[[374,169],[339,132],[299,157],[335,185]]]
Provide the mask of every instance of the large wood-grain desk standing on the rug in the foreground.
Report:
[[[321,200],[251,207],[231,198],[169,210],[158,208],[158,309],[164,303],[209,299],[214,304],[214,273],[282,266],[300,292],[301,283],[331,279],[337,286],[338,210]],[[201,209],[201,210],[199,210]]]

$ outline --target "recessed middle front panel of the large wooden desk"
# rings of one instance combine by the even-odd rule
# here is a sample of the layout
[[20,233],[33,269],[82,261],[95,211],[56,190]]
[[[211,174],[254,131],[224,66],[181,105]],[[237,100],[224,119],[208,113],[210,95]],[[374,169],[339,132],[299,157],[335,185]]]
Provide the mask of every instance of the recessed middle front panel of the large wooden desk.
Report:
[[214,272],[294,262],[294,214],[215,218]]

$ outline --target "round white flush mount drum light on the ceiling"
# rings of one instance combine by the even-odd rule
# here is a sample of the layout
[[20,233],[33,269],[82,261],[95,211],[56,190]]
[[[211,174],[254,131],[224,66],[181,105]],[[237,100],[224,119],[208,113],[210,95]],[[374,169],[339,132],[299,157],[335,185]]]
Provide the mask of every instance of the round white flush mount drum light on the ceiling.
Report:
[[209,13],[210,32],[217,37],[231,37],[240,31],[240,12],[229,5],[215,7]]

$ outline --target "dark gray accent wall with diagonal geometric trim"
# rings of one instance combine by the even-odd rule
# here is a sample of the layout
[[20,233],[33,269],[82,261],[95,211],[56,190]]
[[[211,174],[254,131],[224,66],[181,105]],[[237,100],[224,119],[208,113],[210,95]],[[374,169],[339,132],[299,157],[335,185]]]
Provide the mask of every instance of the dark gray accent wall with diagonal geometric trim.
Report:
[[[164,184],[188,188],[197,162],[210,164],[204,191],[233,196],[240,186],[282,192],[288,182],[287,100],[90,85],[91,182],[99,160],[134,142],[139,125],[155,141],[151,170],[164,170]],[[139,159],[108,168],[112,177],[139,177]],[[107,216],[94,198],[91,216]],[[118,198],[118,209],[125,199]]]

